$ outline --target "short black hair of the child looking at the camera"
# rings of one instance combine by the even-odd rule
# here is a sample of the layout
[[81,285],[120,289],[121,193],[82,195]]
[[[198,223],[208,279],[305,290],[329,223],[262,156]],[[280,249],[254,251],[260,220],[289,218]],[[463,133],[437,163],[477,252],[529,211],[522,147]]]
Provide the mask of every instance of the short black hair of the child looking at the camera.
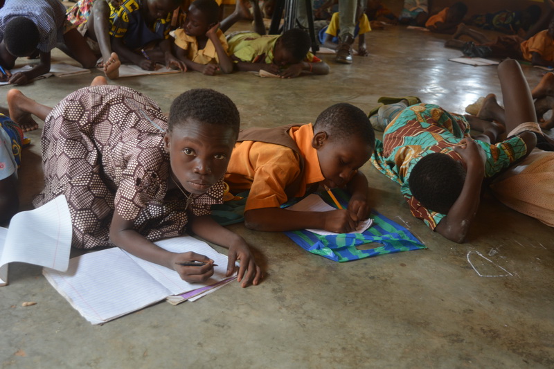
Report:
[[171,103],[168,131],[186,125],[188,119],[233,129],[240,129],[240,115],[233,101],[223,93],[212,89],[192,89],[181,93]]

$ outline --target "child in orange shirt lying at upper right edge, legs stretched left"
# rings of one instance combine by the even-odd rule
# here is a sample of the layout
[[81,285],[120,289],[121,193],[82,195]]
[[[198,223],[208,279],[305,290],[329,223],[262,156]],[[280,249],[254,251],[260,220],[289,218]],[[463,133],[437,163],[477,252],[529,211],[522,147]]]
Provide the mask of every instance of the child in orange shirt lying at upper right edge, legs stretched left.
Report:
[[[459,39],[462,35],[472,37],[477,43],[462,41]],[[533,65],[554,66],[554,17],[548,24],[548,30],[542,30],[529,39],[523,39],[518,35],[505,35],[492,41],[483,33],[460,24],[445,46],[459,48],[467,56],[512,57],[526,60]]]

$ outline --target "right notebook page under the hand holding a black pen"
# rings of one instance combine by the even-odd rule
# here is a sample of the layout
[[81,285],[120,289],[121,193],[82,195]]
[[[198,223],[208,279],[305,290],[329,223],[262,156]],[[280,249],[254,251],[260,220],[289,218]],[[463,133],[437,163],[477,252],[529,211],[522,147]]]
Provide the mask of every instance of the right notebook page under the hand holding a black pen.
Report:
[[181,277],[179,277],[179,273],[177,273],[177,271],[162,267],[161,265],[154,264],[152,262],[147,262],[141,258],[136,258],[134,255],[127,254],[136,262],[136,264],[139,264],[145,271],[150,273],[152,278],[165,286],[171,292],[171,295],[183,294],[184,292],[192,291],[193,289],[197,289],[202,286],[213,285],[214,283],[226,278],[225,273],[227,270],[227,256],[218,253],[204,241],[197,240],[196,238],[187,235],[168,238],[154,243],[161,248],[174,253],[193,251],[195,253],[199,253],[200,255],[206,255],[208,258],[212,259],[215,264],[217,264],[217,267],[214,267],[213,276],[206,280],[206,282],[189,283],[181,280]]

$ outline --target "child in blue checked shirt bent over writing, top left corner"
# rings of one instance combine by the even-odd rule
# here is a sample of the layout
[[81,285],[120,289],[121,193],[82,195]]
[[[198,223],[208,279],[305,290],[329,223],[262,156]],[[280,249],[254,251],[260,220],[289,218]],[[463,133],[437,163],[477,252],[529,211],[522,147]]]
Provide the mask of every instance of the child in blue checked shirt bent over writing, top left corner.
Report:
[[[67,27],[65,7],[59,0],[7,0],[0,9],[0,65],[12,69],[17,57],[39,51],[40,62],[33,69],[8,73],[11,84],[26,84],[50,71],[50,51],[65,44],[64,51],[84,68],[92,68],[96,57],[76,29]],[[2,73],[3,74],[3,73]],[[24,130],[37,127],[22,127]]]

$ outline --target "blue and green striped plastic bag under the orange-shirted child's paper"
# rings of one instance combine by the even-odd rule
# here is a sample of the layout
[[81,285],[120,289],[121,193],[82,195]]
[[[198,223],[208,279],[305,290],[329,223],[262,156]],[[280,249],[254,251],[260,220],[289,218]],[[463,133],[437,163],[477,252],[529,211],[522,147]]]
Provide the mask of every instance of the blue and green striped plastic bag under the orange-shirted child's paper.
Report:
[[[333,192],[341,205],[346,208],[349,195],[342,190],[333,190]],[[319,195],[328,204],[333,204],[326,192],[321,192]],[[298,199],[295,200],[284,204],[283,208],[298,202]],[[244,220],[242,213],[244,213],[245,202],[246,199],[242,199],[213,206],[212,215],[222,225],[242,222]],[[386,253],[426,249],[425,245],[415,238],[410,231],[377,211],[373,210],[370,218],[373,219],[373,224],[364,233],[323,236],[302,230],[285,232],[285,235],[306,251],[336,262],[370,258]],[[364,244],[381,244],[381,246],[364,249],[362,246]]]

